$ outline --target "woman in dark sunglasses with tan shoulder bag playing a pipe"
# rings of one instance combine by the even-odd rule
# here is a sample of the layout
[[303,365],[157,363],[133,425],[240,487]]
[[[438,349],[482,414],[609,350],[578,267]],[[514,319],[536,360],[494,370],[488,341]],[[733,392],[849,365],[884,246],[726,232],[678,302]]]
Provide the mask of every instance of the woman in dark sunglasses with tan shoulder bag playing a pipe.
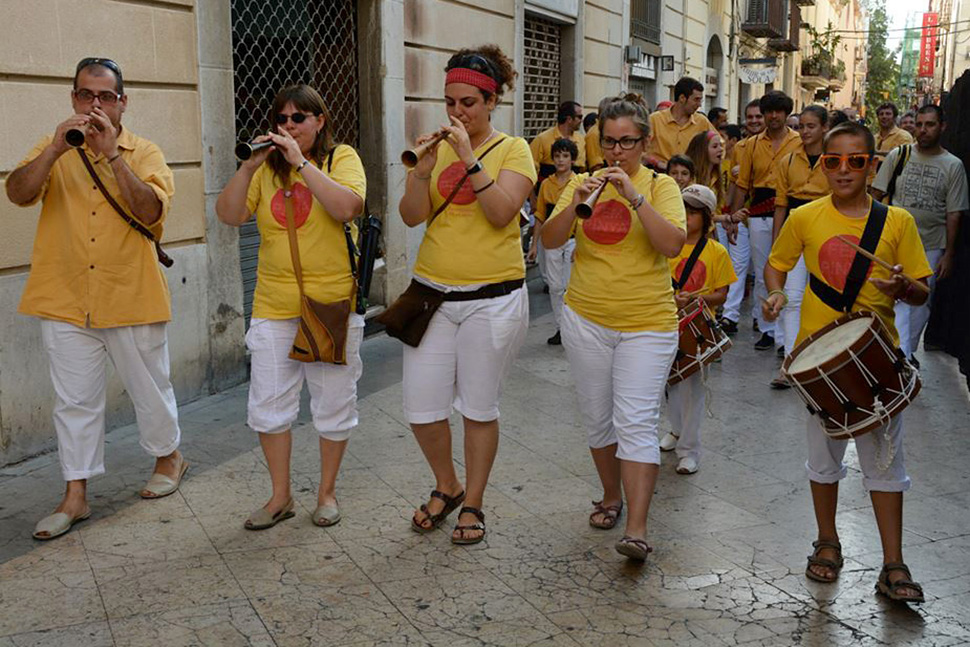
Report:
[[300,410],[304,379],[320,439],[320,486],[311,518],[318,526],[340,521],[335,487],[347,441],[357,426],[364,330],[364,319],[351,304],[346,364],[288,357],[300,323],[301,288],[287,221],[298,241],[302,292],[324,304],[353,301],[356,291],[344,228],[363,211],[367,183],[353,147],[334,144],[330,114],[313,88],[283,88],[273,100],[270,120],[274,130],[253,143],[269,141],[272,147],[254,146],[216,202],[222,222],[238,227],[255,215],[260,234],[253,317],[246,333],[252,355],[248,424],[259,432],[273,492],[246,520],[250,530],[272,527],[294,515],[290,428]]

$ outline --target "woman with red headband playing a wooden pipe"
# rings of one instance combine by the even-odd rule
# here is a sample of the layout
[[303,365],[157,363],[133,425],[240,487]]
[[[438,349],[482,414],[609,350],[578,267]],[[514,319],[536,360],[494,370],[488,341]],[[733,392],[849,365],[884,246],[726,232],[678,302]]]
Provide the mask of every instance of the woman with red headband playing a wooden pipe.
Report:
[[[451,540],[474,544],[485,538],[500,386],[528,328],[518,216],[536,172],[526,141],[491,123],[516,77],[508,57],[495,45],[465,49],[445,72],[447,138],[408,173],[400,204],[405,224],[426,224],[412,288],[430,288],[441,303],[418,345],[404,347],[405,415],[435,476],[411,525],[430,532],[464,504]],[[464,486],[452,461],[453,409],[464,420]]]

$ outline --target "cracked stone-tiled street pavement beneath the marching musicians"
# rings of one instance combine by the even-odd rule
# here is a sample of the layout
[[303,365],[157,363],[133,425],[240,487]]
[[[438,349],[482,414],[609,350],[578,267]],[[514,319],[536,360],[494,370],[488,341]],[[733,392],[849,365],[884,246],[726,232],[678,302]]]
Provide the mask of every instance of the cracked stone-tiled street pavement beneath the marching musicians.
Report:
[[503,399],[483,544],[452,546],[450,524],[410,530],[433,480],[402,417],[400,349],[376,336],[333,528],[309,519],[319,460],[304,422],[297,516],[243,529],[269,491],[245,386],[182,408],[192,469],[169,498],[137,497],[150,460],[133,428],[109,434],[94,515],[56,541],[29,537],[60,494],[56,456],[0,470],[0,647],[970,644],[970,407],[949,358],[919,354],[923,393],[905,413],[904,545],[928,598],[910,609],[874,595],[880,545],[855,469],[841,491],[842,576],[805,579],[805,410],[767,388],[780,360],[756,353],[750,330],[711,371],[700,472],[679,476],[664,456],[655,552],[643,566],[620,558],[621,530],[587,525],[597,479],[562,349],[545,344],[547,299],[533,303]]

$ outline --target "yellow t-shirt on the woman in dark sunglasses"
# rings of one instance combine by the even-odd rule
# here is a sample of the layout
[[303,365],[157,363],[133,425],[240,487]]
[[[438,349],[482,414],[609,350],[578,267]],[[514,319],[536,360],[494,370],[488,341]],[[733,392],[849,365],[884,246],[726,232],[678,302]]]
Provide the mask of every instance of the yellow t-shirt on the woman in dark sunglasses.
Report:
[[[323,172],[334,182],[361,198],[367,195],[364,165],[352,146],[340,144],[334,150],[331,170],[323,160]],[[328,303],[353,298],[354,279],[343,223],[330,217],[313,196],[303,178],[290,172],[293,219],[303,267],[303,290],[315,301]],[[253,175],[246,196],[246,209],[256,214],[259,228],[259,265],[253,316],[264,319],[292,319],[300,316],[300,292],[293,272],[290,242],[286,233],[285,192],[263,163]]]

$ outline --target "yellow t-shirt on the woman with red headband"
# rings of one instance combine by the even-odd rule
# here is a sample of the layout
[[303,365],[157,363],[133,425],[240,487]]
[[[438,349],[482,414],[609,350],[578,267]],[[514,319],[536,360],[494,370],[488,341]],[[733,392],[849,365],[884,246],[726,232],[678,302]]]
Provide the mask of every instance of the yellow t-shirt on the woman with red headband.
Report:
[[[482,160],[489,177],[512,171],[535,183],[537,175],[529,145],[521,137],[508,137]],[[495,137],[475,149],[481,156],[495,144]],[[437,210],[465,175],[465,165],[451,146],[438,148],[431,172],[431,207]],[[425,230],[414,265],[417,276],[445,285],[500,283],[525,276],[519,219],[505,227],[488,222],[477,200],[471,179],[466,180],[451,204]]]

